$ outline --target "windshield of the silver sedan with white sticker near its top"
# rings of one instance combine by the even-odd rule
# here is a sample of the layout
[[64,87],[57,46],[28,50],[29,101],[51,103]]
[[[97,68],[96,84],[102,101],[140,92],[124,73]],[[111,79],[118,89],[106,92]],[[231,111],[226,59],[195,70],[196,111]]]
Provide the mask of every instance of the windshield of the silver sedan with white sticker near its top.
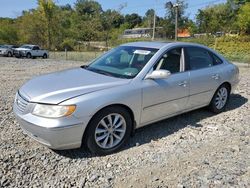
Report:
[[134,78],[157,51],[153,48],[120,46],[84,68],[108,76]]

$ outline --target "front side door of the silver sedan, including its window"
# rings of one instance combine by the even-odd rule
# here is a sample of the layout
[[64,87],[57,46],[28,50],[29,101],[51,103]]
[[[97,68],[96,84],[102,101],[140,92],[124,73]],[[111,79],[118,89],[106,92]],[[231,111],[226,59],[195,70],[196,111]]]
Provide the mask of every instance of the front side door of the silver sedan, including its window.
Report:
[[141,124],[164,119],[186,109],[189,74],[184,72],[183,52],[182,48],[171,49],[152,67],[152,71],[170,71],[168,78],[143,80]]

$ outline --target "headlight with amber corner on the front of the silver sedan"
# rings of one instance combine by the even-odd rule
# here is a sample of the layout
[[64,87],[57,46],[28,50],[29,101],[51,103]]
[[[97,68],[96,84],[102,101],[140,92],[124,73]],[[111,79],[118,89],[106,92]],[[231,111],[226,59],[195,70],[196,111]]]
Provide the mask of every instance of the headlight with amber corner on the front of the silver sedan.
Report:
[[71,115],[75,109],[75,105],[60,106],[36,104],[32,114],[47,118],[59,118]]

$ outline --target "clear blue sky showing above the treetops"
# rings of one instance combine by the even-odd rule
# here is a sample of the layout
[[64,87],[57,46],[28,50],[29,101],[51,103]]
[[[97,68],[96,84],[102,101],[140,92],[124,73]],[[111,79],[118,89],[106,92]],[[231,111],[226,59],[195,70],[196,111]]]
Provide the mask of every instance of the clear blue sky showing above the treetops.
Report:
[[[96,0],[102,5],[103,10],[118,10],[121,5],[125,7],[121,10],[122,14],[137,13],[141,16],[150,9],[156,9],[158,16],[164,17],[164,4],[169,0]],[[58,5],[70,4],[74,6],[76,0],[55,0]],[[172,0],[173,3],[176,0]],[[185,0],[188,4],[186,15],[194,19],[198,9],[209,5],[225,3],[226,0]],[[21,15],[23,10],[29,10],[37,7],[37,0],[0,0],[0,17],[16,18]]]

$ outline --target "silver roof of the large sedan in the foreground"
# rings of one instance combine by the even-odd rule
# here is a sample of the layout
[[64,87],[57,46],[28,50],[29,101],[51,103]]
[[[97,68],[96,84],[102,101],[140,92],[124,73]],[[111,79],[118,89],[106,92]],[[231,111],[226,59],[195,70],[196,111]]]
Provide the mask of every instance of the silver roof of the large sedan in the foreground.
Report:
[[121,46],[137,46],[137,47],[144,47],[144,48],[155,48],[155,49],[161,49],[163,47],[167,47],[167,46],[197,46],[197,47],[205,47],[203,45],[200,44],[196,44],[196,43],[190,43],[190,42],[155,42],[155,41],[148,41],[148,42],[131,42],[131,43],[126,43],[126,44],[122,44]]

